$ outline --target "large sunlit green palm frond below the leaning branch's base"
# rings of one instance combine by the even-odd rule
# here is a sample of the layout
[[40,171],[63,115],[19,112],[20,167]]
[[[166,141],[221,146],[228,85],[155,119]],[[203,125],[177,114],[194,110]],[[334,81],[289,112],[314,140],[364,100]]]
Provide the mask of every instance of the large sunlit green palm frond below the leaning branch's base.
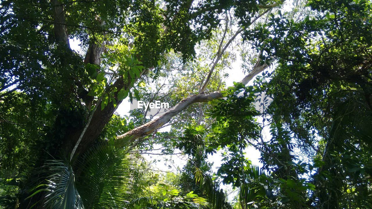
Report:
[[121,208],[131,188],[133,161],[128,149],[118,141],[94,146],[84,157],[84,176],[79,186],[88,208]]

